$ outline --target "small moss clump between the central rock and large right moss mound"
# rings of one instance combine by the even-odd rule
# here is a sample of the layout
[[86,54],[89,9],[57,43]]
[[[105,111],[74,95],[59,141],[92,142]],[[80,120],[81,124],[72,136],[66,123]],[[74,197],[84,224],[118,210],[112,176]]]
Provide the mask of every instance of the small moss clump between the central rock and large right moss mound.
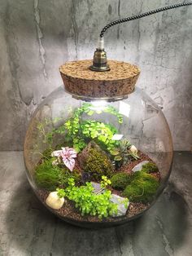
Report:
[[118,174],[114,174],[111,178],[111,187],[115,189],[124,190],[126,186],[132,181],[133,175],[125,174],[120,172]]

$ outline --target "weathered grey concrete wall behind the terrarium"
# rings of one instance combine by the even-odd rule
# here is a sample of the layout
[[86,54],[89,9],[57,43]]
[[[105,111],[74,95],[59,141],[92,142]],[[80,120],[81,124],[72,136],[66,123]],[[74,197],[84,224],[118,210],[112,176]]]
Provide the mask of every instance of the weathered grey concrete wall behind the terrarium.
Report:
[[[107,22],[178,0],[0,0],[0,150],[23,148],[33,110],[61,85],[59,65],[91,59]],[[192,144],[192,7],[121,24],[105,36],[108,59],[137,64],[137,86],[159,104],[175,149]]]

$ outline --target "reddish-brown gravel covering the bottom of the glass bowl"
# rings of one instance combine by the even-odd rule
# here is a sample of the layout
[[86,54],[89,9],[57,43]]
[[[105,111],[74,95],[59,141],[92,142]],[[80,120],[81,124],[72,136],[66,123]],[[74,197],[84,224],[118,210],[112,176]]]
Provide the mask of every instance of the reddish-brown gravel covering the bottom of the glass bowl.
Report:
[[[148,157],[143,152],[138,152],[139,159],[134,160],[131,163],[122,166],[116,172],[124,172],[124,173],[131,173],[134,166],[137,166],[142,161],[151,161],[151,158]],[[159,171],[156,173],[151,173],[156,179],[160,180],[160,173]],[[122,196],[122,192],[110,188],[113,194]],[[130,202],[129,209],[127,210],[124,216],[120,217],[107,217],[100,219],[97,216],[90,216],[85,215],[82,216],[80,211],[76,209],[74,203],[65,199],[64,205],[59,210],[52,210],[50,207],[46,205],[46,198],[50,192],[46,191],[45,189],[37,189],[36,194],[37,197],[43,202],[43,204],[48,208],[52,213],[56,214],[59,218],[62,218],[65,222],[72,223],[73,225],[86,227],[86,228],[99,228],[99,227],[111,227],[117,226],[120,224],[127,223],[134,218],[140,217],[147,209],[151,207],[150,203],[143,204],[142,202]],[[152,202],[153,203],[153,202]]]

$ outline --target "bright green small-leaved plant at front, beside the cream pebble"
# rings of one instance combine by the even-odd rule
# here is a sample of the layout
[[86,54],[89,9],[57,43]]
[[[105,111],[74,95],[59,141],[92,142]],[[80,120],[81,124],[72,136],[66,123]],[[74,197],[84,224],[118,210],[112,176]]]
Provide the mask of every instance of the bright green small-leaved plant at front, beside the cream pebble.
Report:
[[[105,190],[103,194],[94,194],[93,191],[91,183],[76,187],[74,179],[68,179],[68,187],[64,189],[64,195],[74,201],[82,216],[89,214],[97,215],[98,218],[107,218],[117,213],[117,205],[110,201],[111,191]],[[63,195],[63,190],[59,192],[59,195]]]

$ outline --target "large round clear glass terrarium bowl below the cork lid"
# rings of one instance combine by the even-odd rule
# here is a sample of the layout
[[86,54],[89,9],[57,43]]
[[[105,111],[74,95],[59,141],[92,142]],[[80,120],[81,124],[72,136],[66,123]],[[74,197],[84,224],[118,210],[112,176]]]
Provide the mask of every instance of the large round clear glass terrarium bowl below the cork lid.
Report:
[[172,137],[161,109],[139,88],[127,99],[85,101],[61,86],[33,114],[24,161],[52,213],[78,226],[109,227],[137,218],[163,192]]

